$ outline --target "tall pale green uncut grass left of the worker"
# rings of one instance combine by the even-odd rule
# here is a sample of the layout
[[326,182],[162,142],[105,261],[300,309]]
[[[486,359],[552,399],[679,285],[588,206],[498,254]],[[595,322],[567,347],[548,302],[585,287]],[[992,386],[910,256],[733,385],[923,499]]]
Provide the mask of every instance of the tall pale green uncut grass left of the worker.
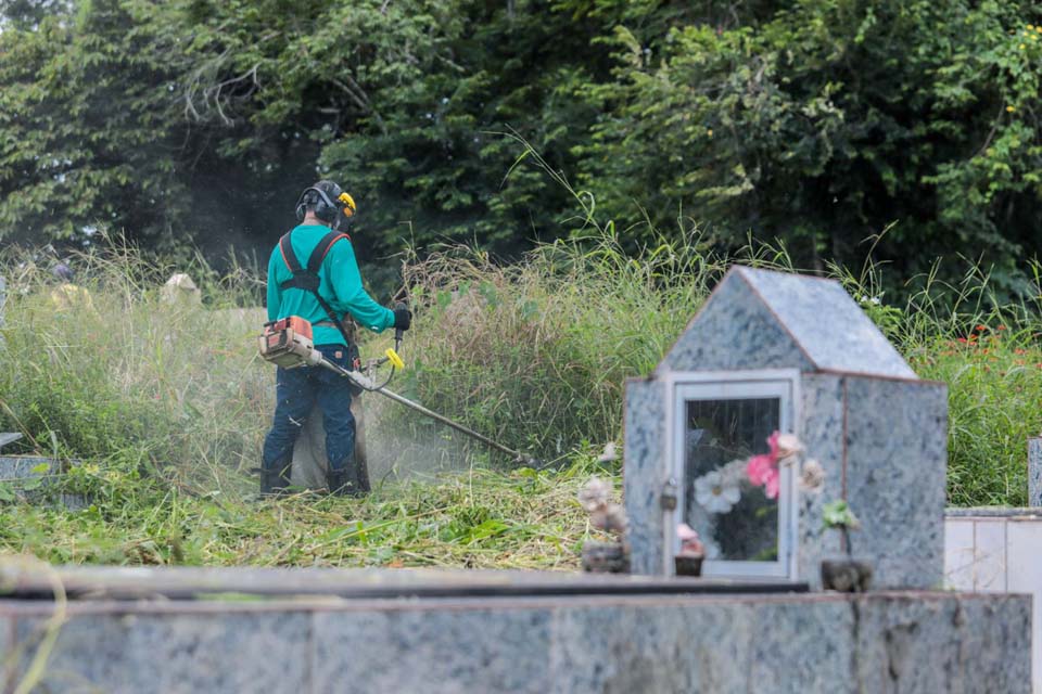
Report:
[[135,460],[208,488],[255,465],[270,399],[255,358],[260,313],[212,308],[249,298],[249,280],[208,287],[206,307],[170,305],[160,287],[173,268],[132,248],[74,265],[86,293],[66,294],[46,268],[13,257],[0,270],[0,425],[25,435],[24,450]]

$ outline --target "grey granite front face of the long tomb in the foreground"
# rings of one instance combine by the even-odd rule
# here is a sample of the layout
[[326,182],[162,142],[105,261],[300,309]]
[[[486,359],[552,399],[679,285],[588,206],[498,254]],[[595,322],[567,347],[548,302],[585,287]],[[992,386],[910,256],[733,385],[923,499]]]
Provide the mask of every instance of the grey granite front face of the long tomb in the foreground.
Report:
[[[0,601],[4,691],[50,609]],[[86,602],[40,691],[1027,693],[1029,627],[1029,597],[924,592]]]

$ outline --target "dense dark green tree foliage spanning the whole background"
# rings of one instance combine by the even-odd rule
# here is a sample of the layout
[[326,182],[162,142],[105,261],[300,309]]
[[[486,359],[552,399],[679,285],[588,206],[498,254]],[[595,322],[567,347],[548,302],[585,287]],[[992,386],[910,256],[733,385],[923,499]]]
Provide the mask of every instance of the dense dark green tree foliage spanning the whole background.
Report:
[[[319,177],[374,258],[513,254],[596,201],[899,275],[1033,253],[1042,21],[997,0],[9,0],[0,237],[266,249]],[[525,156],[525,141],[544,166]],[[592,197],[590,197],[592,196]],[[881,237],[884,230],[888,230]],[[866,244],[866,239],[874,239]]]

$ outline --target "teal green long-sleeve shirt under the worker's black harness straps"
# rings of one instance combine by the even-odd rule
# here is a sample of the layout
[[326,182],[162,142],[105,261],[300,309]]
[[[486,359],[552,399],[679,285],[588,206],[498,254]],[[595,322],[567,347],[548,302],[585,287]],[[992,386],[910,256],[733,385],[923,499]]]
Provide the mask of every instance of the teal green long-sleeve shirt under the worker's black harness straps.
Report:
[[[307,259],[312,257],[312,250],[327,233],[329,233],[328,228],[314,224],[301,224],[295,228],[290,241],[297,262],[306,266]],[[341,239],[330,247],[318,271],[318,277],[321,280],[318,293],[339,316],[350,313],[359,325],[376,333],[394,324],[394,311],[372,300],[361,286],[361,273],[355,260],[355,249],[348,239]],[[282,254],[276,246],[268,260],[268,320],[300,316],[312,322],[316,345],[343,345],[344,337],[334,326],[316,325],[319,321],[328,321],[329,318],[310,292],[280,288],[283,282],[292,278],[293,273],[285,267]]]

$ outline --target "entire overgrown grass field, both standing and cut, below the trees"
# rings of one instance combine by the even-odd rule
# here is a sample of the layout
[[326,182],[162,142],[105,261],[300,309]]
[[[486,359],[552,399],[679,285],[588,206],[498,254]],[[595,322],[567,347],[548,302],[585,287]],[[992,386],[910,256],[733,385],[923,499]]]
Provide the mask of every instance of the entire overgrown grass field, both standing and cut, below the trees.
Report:
[[[768,247],[738,260],[788,268]],[[395,387],[550,467],[509,468],[461,442],[448,470],[381,475],[364,500],[280,501],[257,500],[252,473],[274,397],[258,312],[243,310],[259,279],[194,262],[203,305],[169,305],[171,267],[118,245],[75,262],[89,299],[55,295],[16,250],[0,258],[0,429],[24,434],[18,452],[81,461],[61,488],[91,503],[28,504],[0,481],[0,550],[61,563],[574,568],[590,535],[576,491],[595,473],[621,486],[620,463],[595,454],[621,438],[623,380],[653,368],[729,261],[698,239],[630,257],[610,230],[510,266],[466,248],[410,259],[416,322]],[[957,286],[923,278],[900,304],[875,268],[833,274],[920,376],[950,385],[950,503],[1022,505],[1025,441],[1042,429],[1038,305],[997,303],[973,269]],[[372,439],[445,436],[381,412]],[[391,467],[408,473],[427,450]]]

